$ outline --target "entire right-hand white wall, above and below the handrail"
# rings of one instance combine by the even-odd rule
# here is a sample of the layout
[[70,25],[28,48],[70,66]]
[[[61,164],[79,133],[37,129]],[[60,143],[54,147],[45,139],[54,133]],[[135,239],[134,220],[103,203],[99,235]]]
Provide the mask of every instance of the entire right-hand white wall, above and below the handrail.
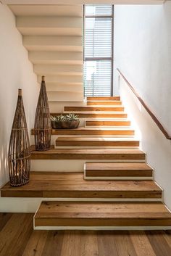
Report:
[[[163,6],[115,7],[115,67],[171,134],[171,1]],[[119,82],[120,81],[120,82]],[[141,134],[141,148],[154,168],[154,179],[164,189],[171,210],[171,141],[167,140],[115,73],[115,89]]]

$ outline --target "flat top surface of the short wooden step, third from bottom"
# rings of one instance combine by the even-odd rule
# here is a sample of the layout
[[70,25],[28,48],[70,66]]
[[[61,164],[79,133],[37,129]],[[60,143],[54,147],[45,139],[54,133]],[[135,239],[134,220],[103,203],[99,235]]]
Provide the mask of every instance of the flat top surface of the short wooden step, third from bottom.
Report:
[[153,170],[145,162],[86,162],[86,170]]

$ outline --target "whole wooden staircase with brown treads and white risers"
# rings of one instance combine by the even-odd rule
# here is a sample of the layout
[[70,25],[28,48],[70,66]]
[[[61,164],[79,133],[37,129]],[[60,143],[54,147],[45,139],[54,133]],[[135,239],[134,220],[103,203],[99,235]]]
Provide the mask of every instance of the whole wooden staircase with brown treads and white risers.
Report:
[[53,130],[49,151],[32,146],[30,183],[7,183],[1,197],[40,198],[36,229],[170,228],[163,191],[120,97],[88,97],[87,106],[64,107],[67,112],[77,113],[83,126]]

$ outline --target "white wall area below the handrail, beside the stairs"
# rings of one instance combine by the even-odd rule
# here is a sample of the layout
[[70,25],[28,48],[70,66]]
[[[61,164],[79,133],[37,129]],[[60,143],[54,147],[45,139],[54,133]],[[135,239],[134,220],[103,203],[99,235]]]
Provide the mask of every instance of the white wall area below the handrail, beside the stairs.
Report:
[[120,78],[120,95],[125,110],[135,129],[141,134],[141,149],[146,152],[146,162],[154,168],[154,180],[164,190],[164,203],[171,209],[171,141],[166,139],[140,102]]

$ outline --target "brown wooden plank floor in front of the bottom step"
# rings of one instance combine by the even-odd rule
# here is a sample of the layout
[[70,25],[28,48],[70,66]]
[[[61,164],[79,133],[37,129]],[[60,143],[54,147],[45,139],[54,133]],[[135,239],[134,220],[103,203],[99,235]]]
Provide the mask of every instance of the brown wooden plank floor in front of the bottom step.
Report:
[[0,213],[0,256],[170,256],[171,231],[33,231],[33,214]]

